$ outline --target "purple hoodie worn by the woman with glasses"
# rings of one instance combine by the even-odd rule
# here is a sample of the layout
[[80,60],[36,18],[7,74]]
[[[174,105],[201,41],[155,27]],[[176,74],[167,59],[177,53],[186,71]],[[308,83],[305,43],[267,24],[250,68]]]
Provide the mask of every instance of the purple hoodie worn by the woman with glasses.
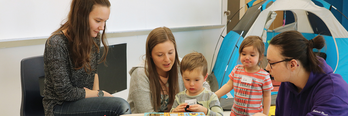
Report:
[[310,72],[308,82],[298,93],[290,82],[282,82],[276,100],[276,116],[348,116],[348,84],[326,64],[326,74]]

